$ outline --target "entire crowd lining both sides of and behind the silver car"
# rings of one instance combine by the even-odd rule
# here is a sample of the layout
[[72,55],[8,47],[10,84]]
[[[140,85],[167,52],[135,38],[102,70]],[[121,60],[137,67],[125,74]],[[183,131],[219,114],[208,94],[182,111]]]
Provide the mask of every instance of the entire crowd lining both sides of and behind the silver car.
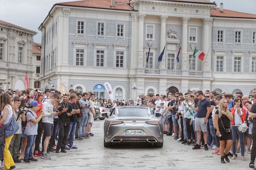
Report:
[[[253,104],[254,103],[254,104]],[[94,99],[92,92],[60,93],[27,88],[0,89],[0,160],[3,168],[14,169],[15,163],[37,162],[36,157],[51,159],[50,153],[77,149],[74,139],[94,136],[94,105],[113,110],[122,105],[148,106],[161,115],[164,134],[173,136],[193,150],[213,150],[221,163],[235,160],[241,153],[251,154],[250,168],[256,157],[256,89],[250,98],[241,92],[232,95],[215,91],[176,92],[168,95],[138,96],[136,101]],[[11,123],[9,123],[11,122]],[[42,139],[42,142],[41,142]],[[57,142],[56,142],[57,141]],[[42,143],[42,150],[40,150]],[[23,161],[22,161],[23,160]]]

